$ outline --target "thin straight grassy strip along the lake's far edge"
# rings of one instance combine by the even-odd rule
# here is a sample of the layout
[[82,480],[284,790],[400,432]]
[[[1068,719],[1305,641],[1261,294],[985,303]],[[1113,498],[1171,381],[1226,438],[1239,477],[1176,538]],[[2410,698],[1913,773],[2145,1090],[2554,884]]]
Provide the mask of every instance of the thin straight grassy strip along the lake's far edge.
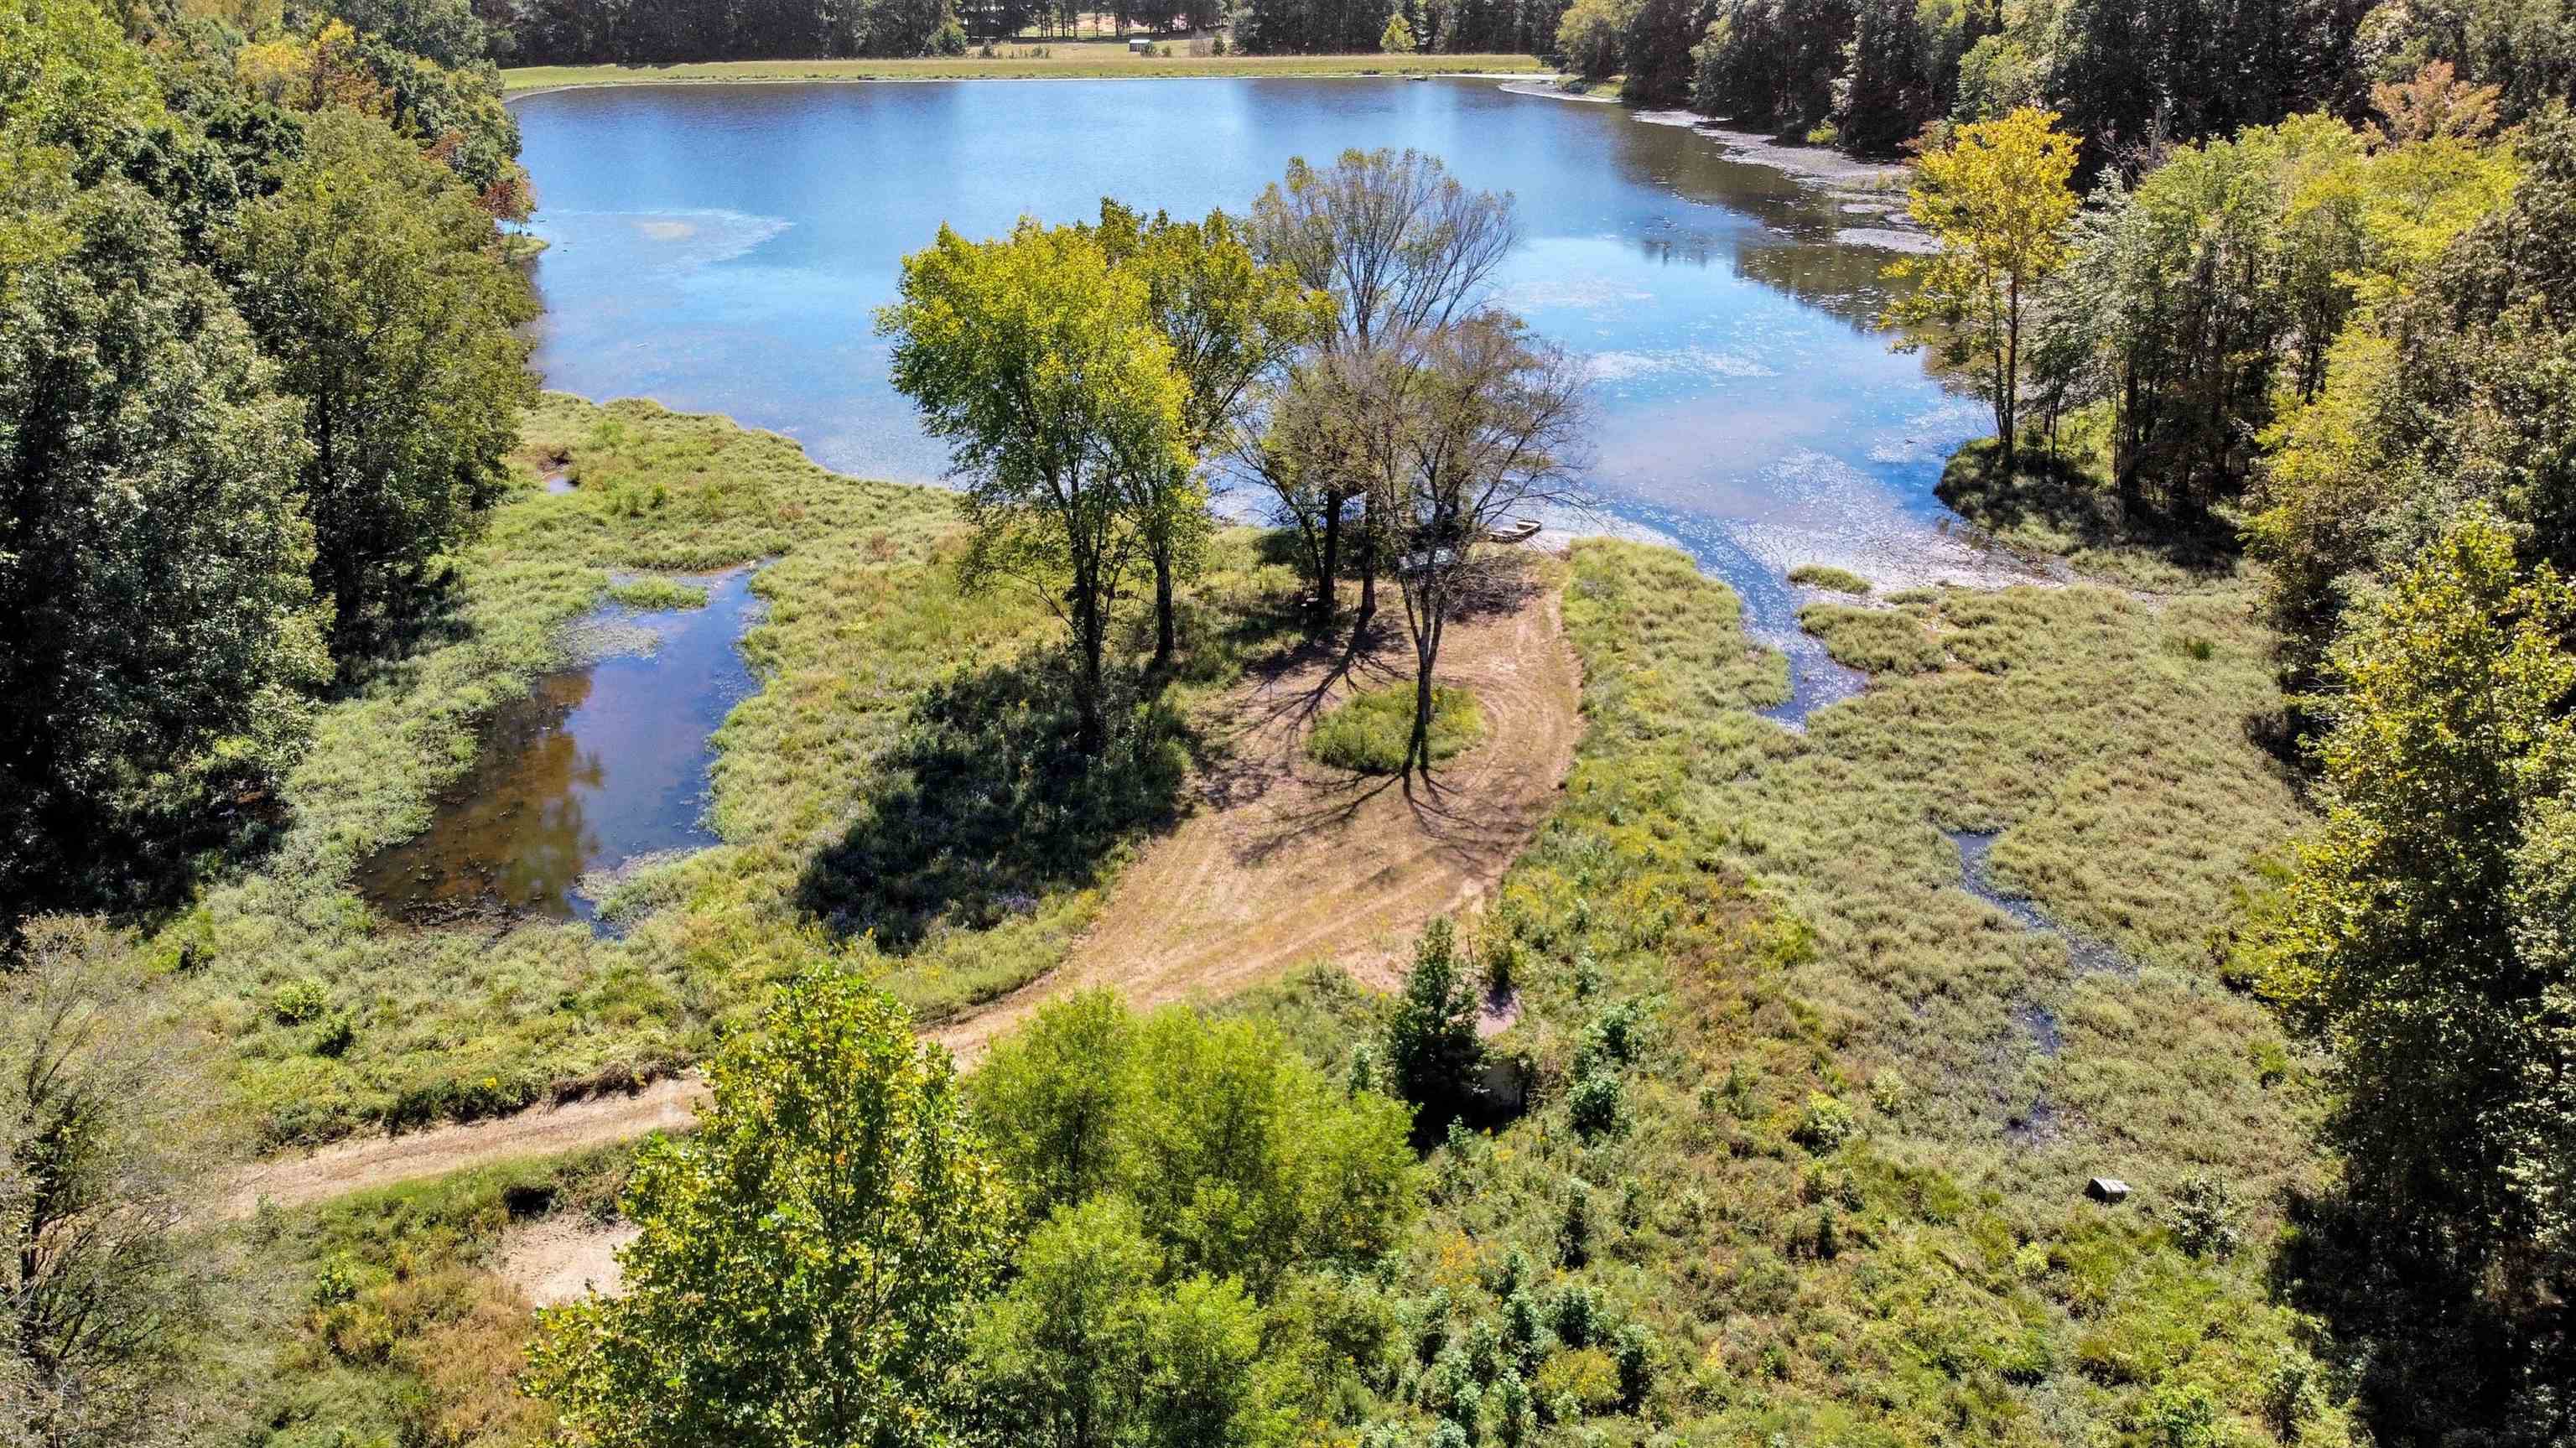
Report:
[[1128,54],[1126,41],[1007,44],[997,57],[726,59],[696,64],[526,64],[502,70],[510,95],[572,85],[724,85],[783,80],[1110,80],[1175,75],[1543,75],[1525,54]]

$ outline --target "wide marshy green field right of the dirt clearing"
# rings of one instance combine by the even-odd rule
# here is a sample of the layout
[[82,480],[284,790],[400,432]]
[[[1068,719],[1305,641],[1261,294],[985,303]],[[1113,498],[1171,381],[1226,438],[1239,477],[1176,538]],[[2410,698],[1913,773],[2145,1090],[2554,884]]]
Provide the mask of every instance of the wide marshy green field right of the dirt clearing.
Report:
[[[1857,652],[1862,613],[1811,624]],[[1479,940],[1543,1105],[1432,1159],[1406,1311],[1466,1366],[1399,1396],[1455,1402],[1528,1291],[1595,1324],[1535,1391],[1605,1443],[2339,1440],[2264,1275],[2308,1098],[2208,956],[2298,822],[2244,600],[1901,595],[1873,636],[1922,649],[1803,737],[1677,554],[1579,546],[1566,618],[1592,734]]]

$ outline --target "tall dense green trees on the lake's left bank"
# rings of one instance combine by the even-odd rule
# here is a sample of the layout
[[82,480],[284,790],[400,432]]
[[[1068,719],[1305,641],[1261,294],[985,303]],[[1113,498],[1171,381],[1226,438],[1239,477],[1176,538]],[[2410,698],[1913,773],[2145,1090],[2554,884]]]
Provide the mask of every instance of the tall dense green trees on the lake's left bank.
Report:
[[0,920],[258,827],[317,626],[417,603],[528,397],[489,75],[131,18],[0,8]]

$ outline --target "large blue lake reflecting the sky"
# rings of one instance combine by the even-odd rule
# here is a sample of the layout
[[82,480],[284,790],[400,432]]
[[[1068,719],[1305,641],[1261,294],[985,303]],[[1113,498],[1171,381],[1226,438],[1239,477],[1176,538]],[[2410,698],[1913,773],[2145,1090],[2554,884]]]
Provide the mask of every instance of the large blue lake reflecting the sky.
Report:
[[636,85],[515,108],[556,389],[726,412],[840,472],[933,482],[945,459],[886,384],[873,312],[940,222],[1092,219],[1103,193],[1242,211],[1293,155],[1419,147],[1517,196],[1499,301],[1589,356],[1592,482],[1618,526],[1690,549],[1790,649],[1783,719],[1855,688],[1795,631],[1790,567],[1991,572],[1932,497],[1984,407],[1870,325],[1901,198],[1731,160],[1687,126],[1492,80]]

